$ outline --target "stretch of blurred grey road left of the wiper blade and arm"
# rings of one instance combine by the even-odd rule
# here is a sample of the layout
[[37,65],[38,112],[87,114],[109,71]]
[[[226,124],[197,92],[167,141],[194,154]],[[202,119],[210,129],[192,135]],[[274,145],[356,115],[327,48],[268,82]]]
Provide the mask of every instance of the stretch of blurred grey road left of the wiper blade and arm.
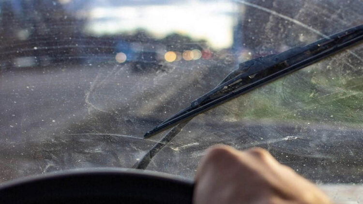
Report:
[[177,62],[145,71],[131,64],[58,64],[2,72],[0,180],[75,167],[130,167],[157,142],[143,140],[145,131],[221,80],[227,70],[211,64]]

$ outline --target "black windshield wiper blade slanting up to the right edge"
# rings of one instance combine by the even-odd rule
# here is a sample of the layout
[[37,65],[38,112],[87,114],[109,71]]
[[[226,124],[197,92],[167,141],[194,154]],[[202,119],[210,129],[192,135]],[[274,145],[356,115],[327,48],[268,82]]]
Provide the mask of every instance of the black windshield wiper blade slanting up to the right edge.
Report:
[[360,25],[306,46],[294,47],[277,55],[243,62],[238,69],[229,73],[217,87],[191,102],[189,107],[146,132],[144,138],[189,120],[267,82],[307,67],[362,40],[363,25]]

